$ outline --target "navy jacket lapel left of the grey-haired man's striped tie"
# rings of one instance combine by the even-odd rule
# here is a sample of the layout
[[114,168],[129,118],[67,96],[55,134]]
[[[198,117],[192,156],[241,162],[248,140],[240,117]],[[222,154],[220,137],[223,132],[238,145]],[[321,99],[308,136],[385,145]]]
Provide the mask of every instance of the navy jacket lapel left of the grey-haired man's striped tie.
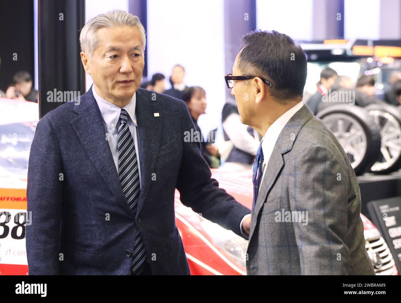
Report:
[[75,106],[73,111],[79,116],[71,122],[71,125],[89,159],[113,194],[113,197],[116,197],[122,207],[132,214],[122,191],[109,143],[105,138],[103,120],[92,89],[89,89],[85,95],[81,96],[81,105]]

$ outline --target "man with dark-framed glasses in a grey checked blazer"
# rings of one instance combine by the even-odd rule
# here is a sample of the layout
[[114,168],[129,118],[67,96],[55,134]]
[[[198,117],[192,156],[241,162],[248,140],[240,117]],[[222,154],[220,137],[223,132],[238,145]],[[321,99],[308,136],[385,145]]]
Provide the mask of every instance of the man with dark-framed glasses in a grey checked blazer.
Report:
[[241,122],[263,140],[253,165],[248,275],[374,275],[355,173],[302,95],[306,58],[278,32],[254,32],[225,76]]

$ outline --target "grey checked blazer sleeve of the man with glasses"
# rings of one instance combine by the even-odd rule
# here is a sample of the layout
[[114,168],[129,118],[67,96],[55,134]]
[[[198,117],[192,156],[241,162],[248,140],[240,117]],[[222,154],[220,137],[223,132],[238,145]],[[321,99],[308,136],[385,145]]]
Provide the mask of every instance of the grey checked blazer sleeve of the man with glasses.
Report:
[[[342,155],[326,147],[307,148],[296,156],[291,211],[308,214],[294,222],[302,275],[347,275],[350,251],[348,174]],[[300,213],[298,213],[300,214]]]

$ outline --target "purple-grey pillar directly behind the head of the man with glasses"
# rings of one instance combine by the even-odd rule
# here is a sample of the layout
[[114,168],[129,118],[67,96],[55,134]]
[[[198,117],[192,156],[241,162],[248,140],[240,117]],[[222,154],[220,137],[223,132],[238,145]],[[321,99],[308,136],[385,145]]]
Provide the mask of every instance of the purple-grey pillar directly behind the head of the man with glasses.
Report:
[[[256,29],[256,0],[224,0],[225,73],[231,74],[241,37]],[[224,84],[224,83],[223,83]],[[233,100],[226,89],[226,100]]]

